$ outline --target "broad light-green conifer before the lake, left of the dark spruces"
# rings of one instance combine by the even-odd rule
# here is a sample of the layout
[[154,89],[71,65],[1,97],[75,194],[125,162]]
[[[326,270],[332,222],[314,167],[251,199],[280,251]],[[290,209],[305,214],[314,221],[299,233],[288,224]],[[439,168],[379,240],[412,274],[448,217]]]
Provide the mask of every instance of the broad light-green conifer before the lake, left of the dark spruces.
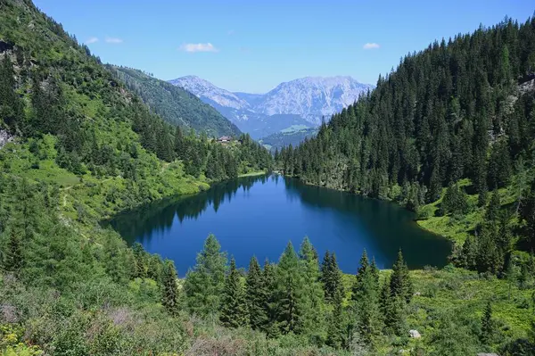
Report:
[[220,249],[216,236],[208,236],[202,252],[197,254],[195,267],[185,276],[187,306],[202,316],[214,314],[220,307],[227,261]]

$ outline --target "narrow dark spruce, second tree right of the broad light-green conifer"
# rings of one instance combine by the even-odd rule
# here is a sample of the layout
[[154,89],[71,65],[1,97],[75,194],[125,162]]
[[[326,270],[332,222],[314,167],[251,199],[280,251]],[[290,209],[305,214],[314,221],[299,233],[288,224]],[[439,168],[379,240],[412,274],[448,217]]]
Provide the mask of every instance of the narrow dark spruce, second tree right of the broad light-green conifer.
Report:
[[249,273],[246,280],[246,300],[249,315],[249,325],[255,330],[261,330],[268,324],[268,290],[264,284],[264,277],[256,257],[251,257]]

